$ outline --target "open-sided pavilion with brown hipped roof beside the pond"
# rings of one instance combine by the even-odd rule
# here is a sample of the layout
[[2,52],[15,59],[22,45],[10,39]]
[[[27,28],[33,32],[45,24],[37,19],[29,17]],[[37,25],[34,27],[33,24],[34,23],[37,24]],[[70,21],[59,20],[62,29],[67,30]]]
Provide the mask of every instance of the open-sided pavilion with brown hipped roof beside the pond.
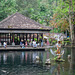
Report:
[[36,38],[38,42],[40,36],[43,39],[43,34],[50,30],[50,27],[16,12],[0,22],[0,46],[5,41],[8,45],[19,45],[21,40],[34,41]]

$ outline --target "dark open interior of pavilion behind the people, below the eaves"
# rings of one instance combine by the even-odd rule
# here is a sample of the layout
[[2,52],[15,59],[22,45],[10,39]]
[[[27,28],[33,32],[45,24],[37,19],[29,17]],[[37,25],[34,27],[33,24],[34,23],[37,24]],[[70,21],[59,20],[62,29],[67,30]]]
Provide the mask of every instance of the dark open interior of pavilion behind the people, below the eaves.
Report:
[[7,42],[7,45],[12,45],[14,42],[15,45],[20,45],[20,41],[23,40],[31,42],[36,41],[38,43],[40,39],[43,39],[43,34],[34,34],[34,33],[1,33],[0,34],[0,42],[3,45],[4,42]]

